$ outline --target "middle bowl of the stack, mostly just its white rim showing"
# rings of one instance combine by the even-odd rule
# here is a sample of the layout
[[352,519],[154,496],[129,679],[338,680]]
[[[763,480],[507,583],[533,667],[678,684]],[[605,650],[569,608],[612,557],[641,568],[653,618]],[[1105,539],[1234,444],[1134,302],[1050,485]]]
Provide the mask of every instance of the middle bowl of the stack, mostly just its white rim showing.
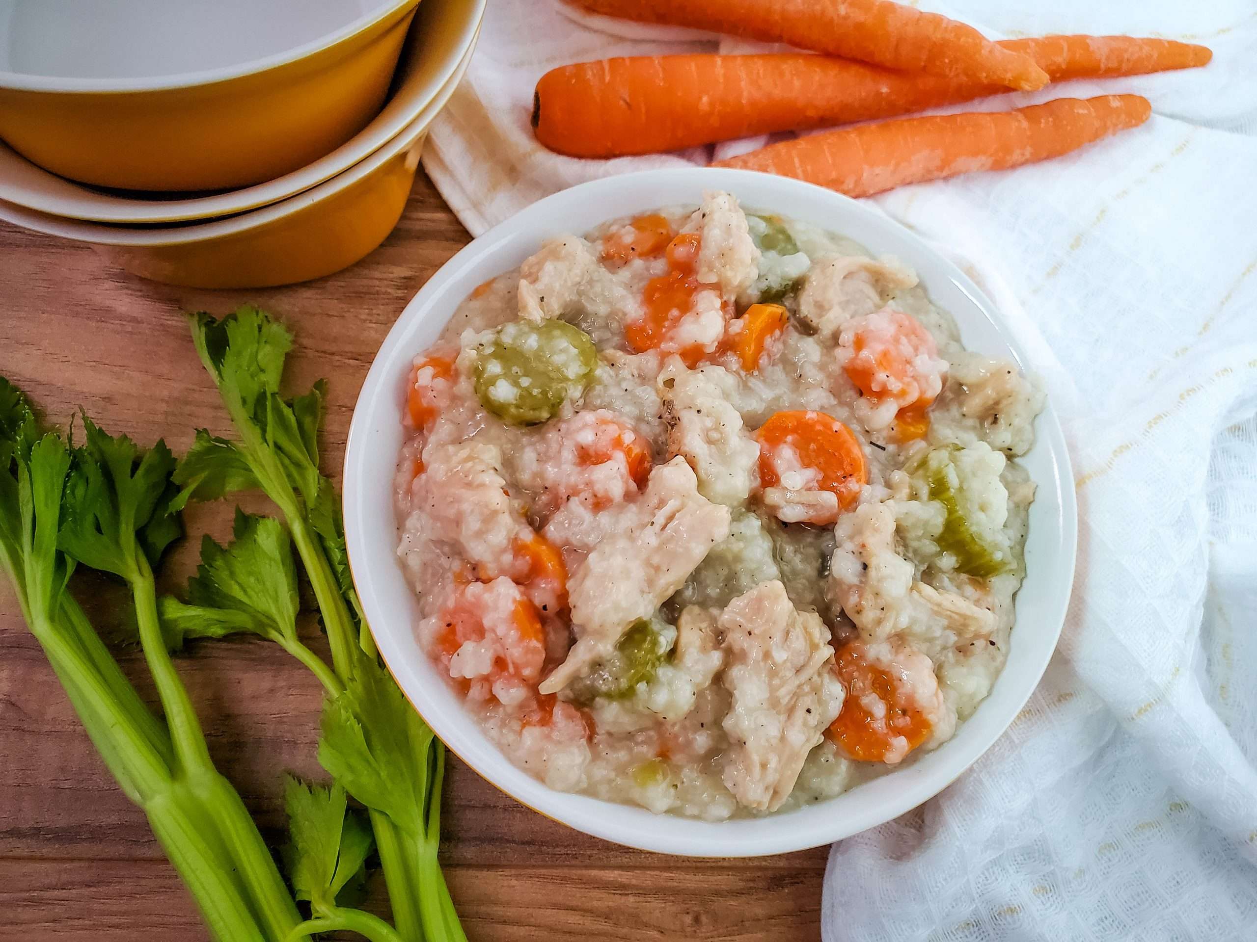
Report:
[[0,142],[0,200],[50,216],[122,225],[229,216],[287,200],[365,160],[414,123],[416,114],[427,107],[463,64],[480,26],[485,3],[422,0],[393,79],[396,90],[380,114],[338,148],[292,173],[212,196],[134,198],[114,196],[49,173]]

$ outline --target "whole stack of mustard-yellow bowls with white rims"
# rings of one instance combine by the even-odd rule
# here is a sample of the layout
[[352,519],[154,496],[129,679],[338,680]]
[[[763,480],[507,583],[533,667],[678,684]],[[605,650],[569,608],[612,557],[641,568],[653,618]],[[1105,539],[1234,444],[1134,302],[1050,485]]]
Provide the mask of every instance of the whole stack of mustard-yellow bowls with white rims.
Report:
[[337,271],[401,217],[485,0],[0,0],[0,220],[143,278]]

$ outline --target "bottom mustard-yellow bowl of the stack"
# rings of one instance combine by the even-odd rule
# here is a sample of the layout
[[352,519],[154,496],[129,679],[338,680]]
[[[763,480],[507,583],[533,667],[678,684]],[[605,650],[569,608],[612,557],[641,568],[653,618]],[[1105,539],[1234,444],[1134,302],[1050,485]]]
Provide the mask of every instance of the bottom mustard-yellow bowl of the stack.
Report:
[[131,229],[50,216],[0,202],[0,220],[94,246],[141,278],[191,288],[269,288],[352,265],[392,231],[419,168],[427,128],[466,70],[410,126],[361,163],[289,200],[229,219]]

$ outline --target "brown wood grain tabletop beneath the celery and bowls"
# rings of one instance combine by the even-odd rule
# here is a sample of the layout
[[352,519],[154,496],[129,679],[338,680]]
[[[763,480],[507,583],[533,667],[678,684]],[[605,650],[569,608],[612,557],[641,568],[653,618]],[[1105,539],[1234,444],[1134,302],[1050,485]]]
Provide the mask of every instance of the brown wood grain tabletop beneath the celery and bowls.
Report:
[[[185,310],[253,301],[297,333],[288,382],[331,384],[324,463],[339,476],[358,388],[385,333],[469,236],[422,175],[388,240],[347,271],[294,288],[197,291],[134,279],[91,249],[0,224],[0,373],[52,422],[82,406],[106,430],[181,453],[196,427],[229,433]],[[265,507],[260,497],[241,504]],[[161,575],[181,590],[199,534],[222,539],[228,504],[194,506]],[[117,587],[75,577],[93,620]],[[322,644],[313,620],[304,632]],[[145,676],[134,653],[123,668]],[[273,844],[280,775],[319,776],[321,693],[282,651],[250,639],[191,646],[178,669],[219,767]],[[628,850],[515,804],[450,757],[441,860],[471,942],[491,939],[815,939],[825,850],[694,860]],[[378,880],[370,904],[385,904]],[[0,580],[0,939],[204,939],[196,912],[78,725],[8,583]]]

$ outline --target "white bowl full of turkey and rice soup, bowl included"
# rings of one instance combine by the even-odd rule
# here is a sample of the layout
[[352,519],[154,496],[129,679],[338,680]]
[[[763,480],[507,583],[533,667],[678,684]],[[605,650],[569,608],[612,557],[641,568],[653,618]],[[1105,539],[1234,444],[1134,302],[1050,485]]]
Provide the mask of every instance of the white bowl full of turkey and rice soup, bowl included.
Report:
[[539,201],[386,338],[344,470],[381,654],[523,804],[816,847],[1012,722],[1072,584],[1068,455],[998,311],[875,208],[666,170]]

